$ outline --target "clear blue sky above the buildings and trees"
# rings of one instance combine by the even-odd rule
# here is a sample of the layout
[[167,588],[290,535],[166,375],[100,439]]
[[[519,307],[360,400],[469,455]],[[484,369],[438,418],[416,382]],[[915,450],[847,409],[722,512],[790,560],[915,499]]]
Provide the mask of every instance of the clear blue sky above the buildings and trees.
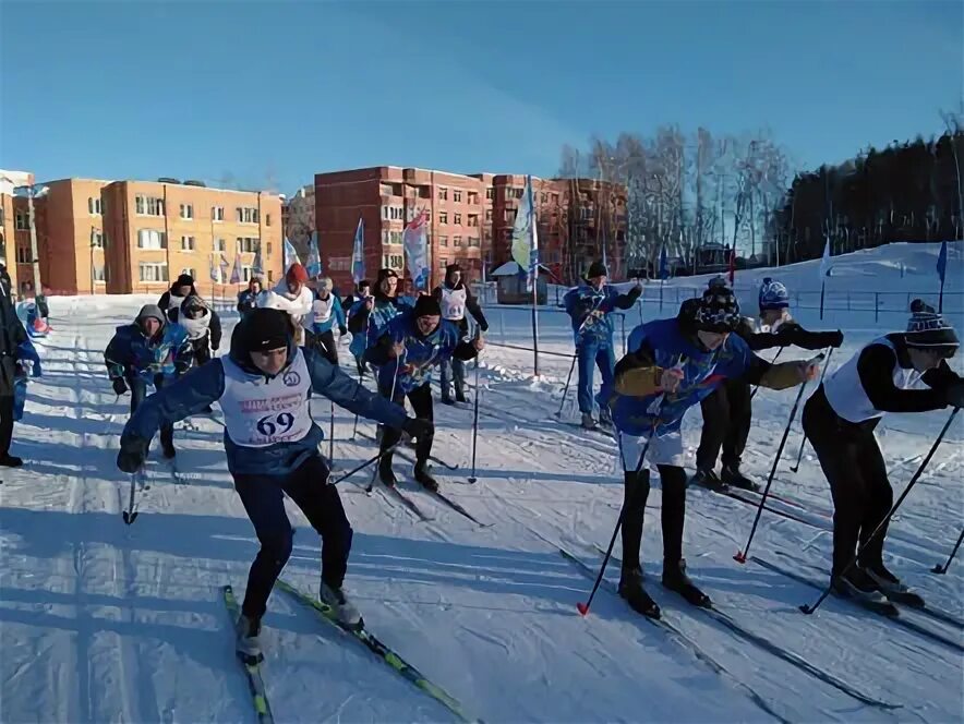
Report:
[[563,144],[768,128],[804,167],[939,132],[964,3],[0,3],[0,167],[274,180],[550,176]]

